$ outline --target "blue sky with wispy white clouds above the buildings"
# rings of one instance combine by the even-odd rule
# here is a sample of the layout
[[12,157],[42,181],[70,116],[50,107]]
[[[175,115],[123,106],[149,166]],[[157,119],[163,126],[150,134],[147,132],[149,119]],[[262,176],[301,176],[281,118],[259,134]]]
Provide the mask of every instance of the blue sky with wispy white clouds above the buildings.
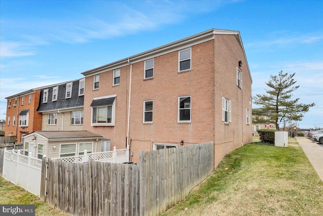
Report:
[[322,11],[323,1],[0,0],[0,119],[8,96],[218,28],[240,31],[253,95],[295,72],[294,97],[316,104],[297,123],[323,127]]

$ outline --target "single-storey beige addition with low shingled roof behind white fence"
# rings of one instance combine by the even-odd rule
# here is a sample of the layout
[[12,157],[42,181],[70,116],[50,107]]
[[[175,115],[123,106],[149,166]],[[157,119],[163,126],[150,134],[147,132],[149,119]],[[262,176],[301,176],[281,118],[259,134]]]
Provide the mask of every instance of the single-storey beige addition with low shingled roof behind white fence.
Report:
[[36,131],[24,136],[24,154],[42,159],[101,151],[102,136],[87,131]]

